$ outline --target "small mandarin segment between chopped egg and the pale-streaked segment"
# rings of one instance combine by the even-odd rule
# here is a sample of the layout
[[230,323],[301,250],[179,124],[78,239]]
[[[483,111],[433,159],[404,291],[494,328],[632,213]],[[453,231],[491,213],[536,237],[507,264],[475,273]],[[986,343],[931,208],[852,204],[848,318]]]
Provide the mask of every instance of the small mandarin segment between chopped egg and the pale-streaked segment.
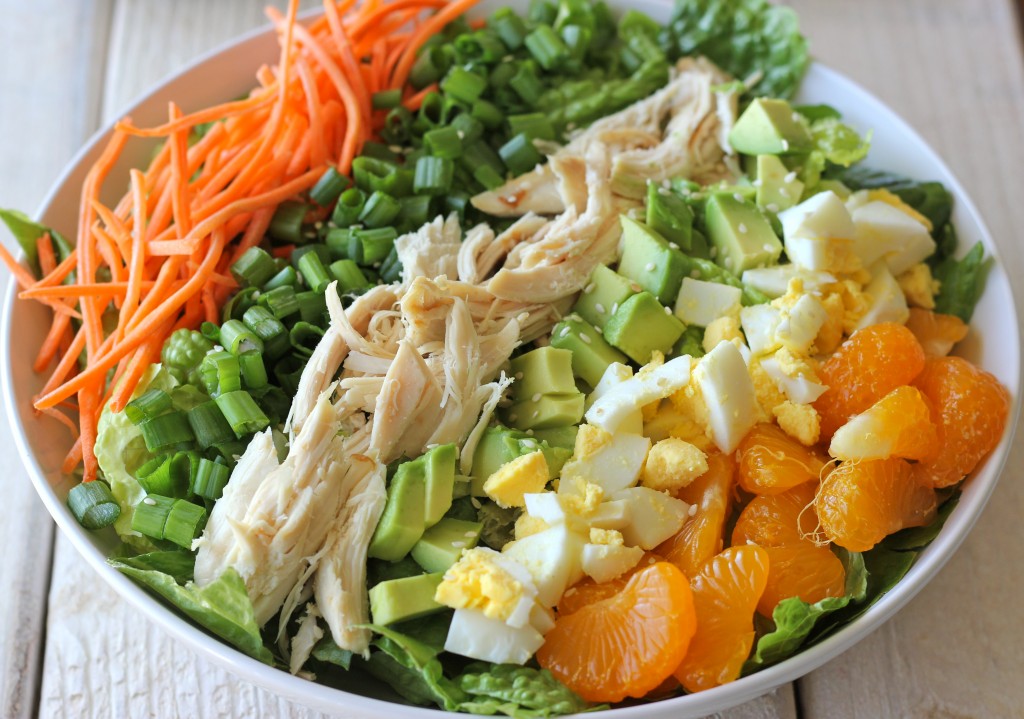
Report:
[[825,459],[774,424],[754,427],[737,451],[739,485],[755,495],[773,495],[817,481]]

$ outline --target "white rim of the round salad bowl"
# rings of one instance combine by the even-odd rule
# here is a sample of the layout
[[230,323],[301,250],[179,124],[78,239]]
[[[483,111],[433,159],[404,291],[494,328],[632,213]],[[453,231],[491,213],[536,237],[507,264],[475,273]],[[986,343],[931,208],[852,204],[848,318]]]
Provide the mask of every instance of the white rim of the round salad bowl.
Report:
[[[624,6],[642,6],[646,4],[644,0],[620,0],[615,4]],[[319,10],[311,9],[299,14],[300,20],[308,20],[321,13]],[[236,50],[239,46],[264,40],[273,33],[273,28],[261,26],[236,36],[225,42],[215,46],[213,49],[199,55],[180,70],[166,76],[161,81],[150,86],[140,96],[129,103],[126,112],[122,112],[118,117],[129,114],[141,105],[148,103],[155,95],[158,95],[166,85],[183,76],[198,71],[201,66],[216,58],[222,53]],[[941,157],[928,144],[927,141],[914,130],[901,116],[893,111],[888,104],[876,97],[871,92],[863,88],[860,84],[849,79],[842,73],[835,71],[827,66],[813,60],[808,68],[807,76],[819,74],[831,85],[846,85],[844,91],[853,91],[867,98],[872,103],[882,109],[887,117],[887,123],[895,125],[898,131],[904,133],[912,139],[914,147],[912,154],[921,155],[925,160],[934,164],[944,175],[943,183],[951,192],[955,199],[955,206],[958,213],[968,216],[978,227],[979,239],[982,241],[986,251],[994,259],[995,265],[1005,267],[991,232],[985,224],[981,214],[978,212],[973,200],[964,189],[959,180],[952,173]],[[34,218],[44,217],[50,206],[59,195],[61,187],[74,174],[76,168],[97,146],[105,140],[113,129],[114,122],[105,124],[94,132],[86,140],[74,157],[65,165],[56,180],[47,192],[46,197],[40,204],[39,209],[34,213]],[[89,565],[100,575],[121,597],[127,599],[135,608],[141,610],[150,620],[162,627],[174,639],[181,640],[193,650],[203,655],[205,659],[213,660],[219,666],[227,669],[239,677],[252,681],[263,689],[287,696],[293,701],[306,706],[315,707],[325,711],[349,710],[355,712],[367,712],[373,716],[402,716],[409,719],[425,717],[451,716],[446,712],[434,708],[413,707],[393,703],[386,700],[375,699],[362,694],[356,694],[344,689],[334,688],[325,684],[308,681],[297,676],[293,676],[284,670],[279,670],[272,666],[262,664],[258,660],[252,659],[236,649],[219,638],[206,633],[204,630],[194,626],[188,620],[179,616],[164,603],[157,601],[156,597],[134,584],[127,577],[106,563],[106,557],[89,539],[87,532],[82,528],[68,510],[65,502],[57,498],[53,489],[46,479],[45,472],[40,467],[34,456],[29,440],[28,427],[24,426],[17,413],[17,406],[13,400],[14,386],[12,375],[12,354],[11,324],[17,302],[17,288],[13,281],[9,281],[6,297],[4,298],[2,314],[0,314],[0,389],[4,397],[4,406],[10,425],[11,433],[14,437],[15,446],[22,457],[23,465],[28,472],[33,487],[42,500],[44,506],[60,527],[66,538],[69,539],[76,550],[85,557]],[[1007,290],[1013,297],[1013,285],[1007,283]],[[970,534],[971,528],[981,516],[998,479],[1002,475],[1006,464],[1009,460],[1010,450],[1013,447],[1013,438],[1019,422],[1022,407],[1022,394],[1020,391],[1024,373],[1020,362],[1020,331],[1019,321],[1016,312],[1016,302],[1012,302],[1010,313],[1013,315],[1013,335],[1018,348],[1017,371],[1014,378],[1017,382],[1017,391],[1013,398],[1013,406],[1008,418],[1007,428],[1004,432],[999,445],[985,459],[982,471],[986,475],[991,475],[980,494],[975,494],[969,507],[961,506],[954,511],[963,514],[970,510],[966,523],[956,533],[942,532],[922,551],[914,560],[909,572],[879,600],[868,607],[861,616],[842,629],[830,634],[825,639],[810,646],[790,659],[774,666],[762,669],[754,674],[741,677],[734,682],[725,684],[706,691],[684,694],[673,699],[663,700],[651,704],[642,704],[631,707],[620,707],[612,711],[615,716],[626,719],[644,717],[684,717],[703,716],[709,711],[719,711],[726,706],[733,707],[743,702],[753,700],[764,693],[777,688],[778,686],[795,681],[807,673],[821,667],[829,660],[846,651],[853,644],[865,638],[876,631],[882,624],[891,619],[899,609],[907,604],[927,584],[930,582],[941,567],[952,557],[955,550]],[[977,481],[977,479],[975,480]],[[963,505],[963,503],[962,503]]]

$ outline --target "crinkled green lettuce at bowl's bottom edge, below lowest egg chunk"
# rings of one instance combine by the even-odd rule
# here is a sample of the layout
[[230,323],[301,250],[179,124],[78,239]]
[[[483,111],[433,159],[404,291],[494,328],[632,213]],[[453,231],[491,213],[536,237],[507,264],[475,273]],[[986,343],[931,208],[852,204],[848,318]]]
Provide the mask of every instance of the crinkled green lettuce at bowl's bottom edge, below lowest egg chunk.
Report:
[[456,680],[469,694],[460,711],[535,719],[577,714],[590,705],[546,669],[512,664],[472,664]]

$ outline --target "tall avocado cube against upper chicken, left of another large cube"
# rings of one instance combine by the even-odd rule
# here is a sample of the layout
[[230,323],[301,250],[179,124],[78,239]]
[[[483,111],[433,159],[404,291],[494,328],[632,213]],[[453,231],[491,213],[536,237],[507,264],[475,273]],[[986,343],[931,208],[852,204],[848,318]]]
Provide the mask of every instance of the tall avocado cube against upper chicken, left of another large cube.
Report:
[[659,301],[671,304],[679,293],[685,273],[682,253],[645,224],[621,215],[623,258],[618,273],[633,280]]

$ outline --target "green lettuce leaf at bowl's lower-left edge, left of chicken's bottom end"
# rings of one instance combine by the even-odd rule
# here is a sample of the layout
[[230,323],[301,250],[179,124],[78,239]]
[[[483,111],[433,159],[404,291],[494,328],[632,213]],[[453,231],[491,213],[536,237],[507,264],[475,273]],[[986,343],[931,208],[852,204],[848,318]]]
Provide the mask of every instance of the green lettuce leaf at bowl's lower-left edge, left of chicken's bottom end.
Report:
[[108,559],[122,574],[159,594],[201,627],[250,657],[271,664],[273,657],[263,645],[252,601],[239,574],[228,568],[205,587],[191,582],[179,585],[174,577],[156,569],[142,569],[125,559]]

